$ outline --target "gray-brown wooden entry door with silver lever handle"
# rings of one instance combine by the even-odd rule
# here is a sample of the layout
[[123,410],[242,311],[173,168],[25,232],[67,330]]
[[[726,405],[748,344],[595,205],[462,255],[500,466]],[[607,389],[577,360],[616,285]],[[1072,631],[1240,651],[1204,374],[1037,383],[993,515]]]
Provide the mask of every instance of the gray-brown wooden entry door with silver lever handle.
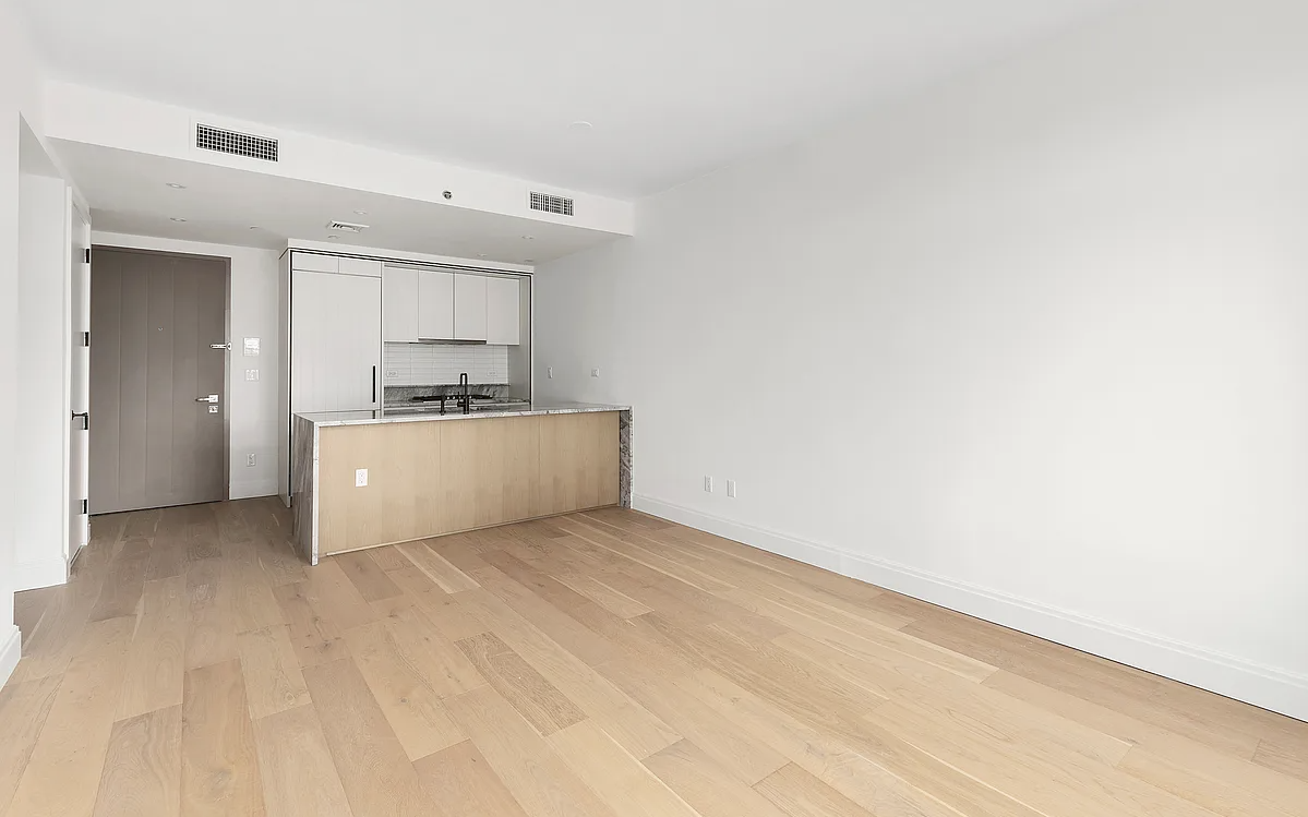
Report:
[[226,498],[228,264],[97,247],[90,512]]

